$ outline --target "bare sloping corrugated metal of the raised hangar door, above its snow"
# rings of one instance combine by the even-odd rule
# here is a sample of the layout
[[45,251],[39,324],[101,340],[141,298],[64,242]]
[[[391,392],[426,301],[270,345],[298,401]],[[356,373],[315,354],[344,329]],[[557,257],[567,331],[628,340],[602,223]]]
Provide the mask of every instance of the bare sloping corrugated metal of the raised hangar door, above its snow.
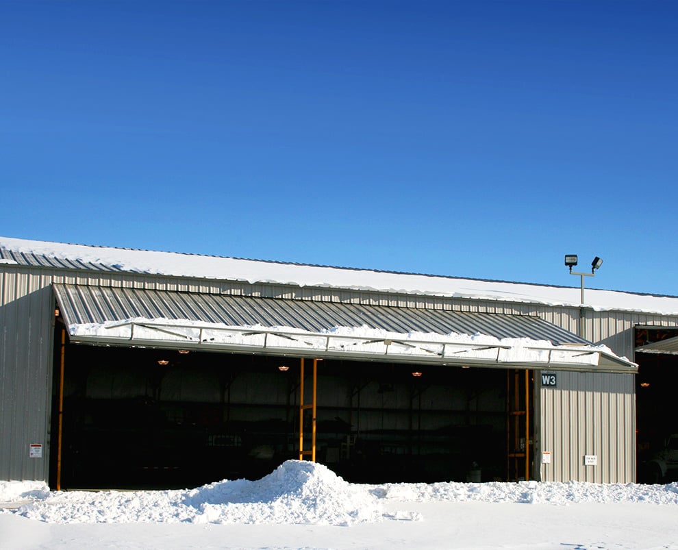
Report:
[[530,316],[101,286],[55,285],[55,290],[68,323],[73,324],[124,321],[142,317],[188,319],[228,326],[284,326],[312,332],[321,332],[336,326],[367,325],[401,334],[479,333],[496,338],[550,340],[555,345],[586,343],[560,327]]

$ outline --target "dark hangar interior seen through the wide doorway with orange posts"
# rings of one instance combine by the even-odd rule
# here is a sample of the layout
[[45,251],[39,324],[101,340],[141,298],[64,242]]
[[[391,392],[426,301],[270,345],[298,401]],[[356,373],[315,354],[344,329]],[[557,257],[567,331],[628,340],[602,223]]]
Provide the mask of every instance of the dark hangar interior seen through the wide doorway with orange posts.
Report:
[[[64,359],[64,488],[258,479],[299,457],[298,358],[67,344]],[[525,451],[507,440],[514,371],[318,364],[316,460],[348,481],[506,479],[508,445]]]

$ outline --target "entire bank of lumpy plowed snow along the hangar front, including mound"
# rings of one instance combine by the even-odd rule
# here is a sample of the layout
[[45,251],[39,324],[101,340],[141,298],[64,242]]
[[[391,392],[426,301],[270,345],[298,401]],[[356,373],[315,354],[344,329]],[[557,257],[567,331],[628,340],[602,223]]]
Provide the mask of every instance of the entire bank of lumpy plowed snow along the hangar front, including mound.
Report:
[[[29,500],[28,503],[25,501]],[[641,503],[678,505],[678,484],[583,482],[349,484],[326,466],[288,460],[273,473],[191,490],[49,492],[39,482],[0,482],[0,502],[46,523],[216,523],[354,525],[416,521],[419,512],[394,511],[400,503],[484,502],[569,505]],[[385,512],[388,505],[390,512]]]

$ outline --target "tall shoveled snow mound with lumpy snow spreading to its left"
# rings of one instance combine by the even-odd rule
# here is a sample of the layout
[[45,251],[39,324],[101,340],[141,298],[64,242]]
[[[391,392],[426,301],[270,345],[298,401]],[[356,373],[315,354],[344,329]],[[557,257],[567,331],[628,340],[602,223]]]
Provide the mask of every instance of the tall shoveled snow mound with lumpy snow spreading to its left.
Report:
[[298,460],[255,482],[238,479],[183,491],[42,493],[14,513],[47,523],[351,525],[382,517],[379,500],[367,488],[344,482],[321,464]]

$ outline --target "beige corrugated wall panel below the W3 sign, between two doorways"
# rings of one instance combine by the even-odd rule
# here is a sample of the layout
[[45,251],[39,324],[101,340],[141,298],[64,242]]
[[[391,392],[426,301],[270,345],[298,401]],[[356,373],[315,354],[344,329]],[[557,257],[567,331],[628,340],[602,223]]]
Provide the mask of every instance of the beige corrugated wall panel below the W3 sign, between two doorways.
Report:
[[[558,372],[557,388],[540,388],[540,479],[630,483],[636,478],[633,375]],[[584,465],[597,455],[597,466]],[[536,457],[541,462],[541,456]]]

